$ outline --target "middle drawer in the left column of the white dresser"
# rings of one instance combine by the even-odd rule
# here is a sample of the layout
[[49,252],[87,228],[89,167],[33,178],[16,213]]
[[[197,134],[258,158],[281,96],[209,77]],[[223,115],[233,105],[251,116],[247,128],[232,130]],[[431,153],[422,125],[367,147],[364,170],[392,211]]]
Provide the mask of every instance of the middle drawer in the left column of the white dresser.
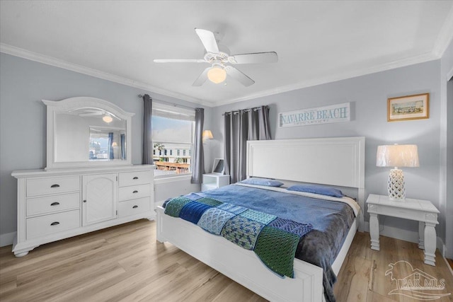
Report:
[[27,216],[78,209],[80,207],[79,192],[52,195],[27,199]]

